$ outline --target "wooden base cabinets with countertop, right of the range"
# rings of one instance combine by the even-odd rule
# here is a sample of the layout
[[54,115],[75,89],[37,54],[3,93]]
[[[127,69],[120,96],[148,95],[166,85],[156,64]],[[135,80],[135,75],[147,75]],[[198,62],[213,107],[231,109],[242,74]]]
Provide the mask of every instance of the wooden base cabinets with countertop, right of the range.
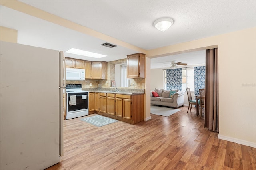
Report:
[[97,113],[131,124],[143,121],[144,89],[122,90],[125,89],[90,89],[89,114]]

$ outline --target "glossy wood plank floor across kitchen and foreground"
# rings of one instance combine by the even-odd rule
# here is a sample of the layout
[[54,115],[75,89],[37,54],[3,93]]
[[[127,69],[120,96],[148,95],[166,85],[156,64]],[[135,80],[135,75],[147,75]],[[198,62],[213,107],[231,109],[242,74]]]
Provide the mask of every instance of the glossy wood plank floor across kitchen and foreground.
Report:
[[65,120],[64,156],[48,170],[256,170],[256,148],[218,139],[187,108],[135,125]]

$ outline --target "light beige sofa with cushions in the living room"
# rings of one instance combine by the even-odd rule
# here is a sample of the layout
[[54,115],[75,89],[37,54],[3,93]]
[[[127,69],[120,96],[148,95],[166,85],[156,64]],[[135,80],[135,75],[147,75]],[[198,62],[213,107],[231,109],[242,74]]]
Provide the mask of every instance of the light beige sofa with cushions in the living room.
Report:
[[151,105],[161,105],[161,106],[168,106],[168,107],[175,107],[175,108],[178,108],[184,105],[185,91],[176,91],[176,93],[172,95],[172,98],[168,96],[168,93],[170,93],[170,90],[168,91],[163,89],[156,89],[153,92],[158,93],[159,97],[154,97],[151,91],[150,92]]

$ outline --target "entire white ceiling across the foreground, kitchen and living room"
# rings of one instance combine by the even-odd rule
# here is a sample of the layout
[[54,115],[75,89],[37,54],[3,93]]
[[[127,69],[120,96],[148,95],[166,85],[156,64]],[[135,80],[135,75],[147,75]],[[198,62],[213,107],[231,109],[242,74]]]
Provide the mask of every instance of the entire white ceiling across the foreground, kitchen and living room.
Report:
[[[22,2],[86,26],[142,49],[155,49],[256,26],[256,1],[88,1],[29,0]],[[1,6],[1,26],[18,30],[18,43],[67,51],[78,48],[108,55],[113,61],[136,53],[118,44],[102,47],[104,40],[64,28]],[[165,32],[153,27],[161,17],[174,24]],[[69,55],[96,61],[90,57]],[[172,60],[190,65],[204,63],[198,51],[152,59],[151,68],[163,68]]]

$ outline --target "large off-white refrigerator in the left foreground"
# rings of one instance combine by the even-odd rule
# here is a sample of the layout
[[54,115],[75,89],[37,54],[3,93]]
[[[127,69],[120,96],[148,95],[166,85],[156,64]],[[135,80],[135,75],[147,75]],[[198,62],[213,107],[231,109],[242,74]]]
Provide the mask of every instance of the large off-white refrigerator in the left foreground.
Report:
[[0,169],[48,168],[63,155],[63,52],[0,47]]

